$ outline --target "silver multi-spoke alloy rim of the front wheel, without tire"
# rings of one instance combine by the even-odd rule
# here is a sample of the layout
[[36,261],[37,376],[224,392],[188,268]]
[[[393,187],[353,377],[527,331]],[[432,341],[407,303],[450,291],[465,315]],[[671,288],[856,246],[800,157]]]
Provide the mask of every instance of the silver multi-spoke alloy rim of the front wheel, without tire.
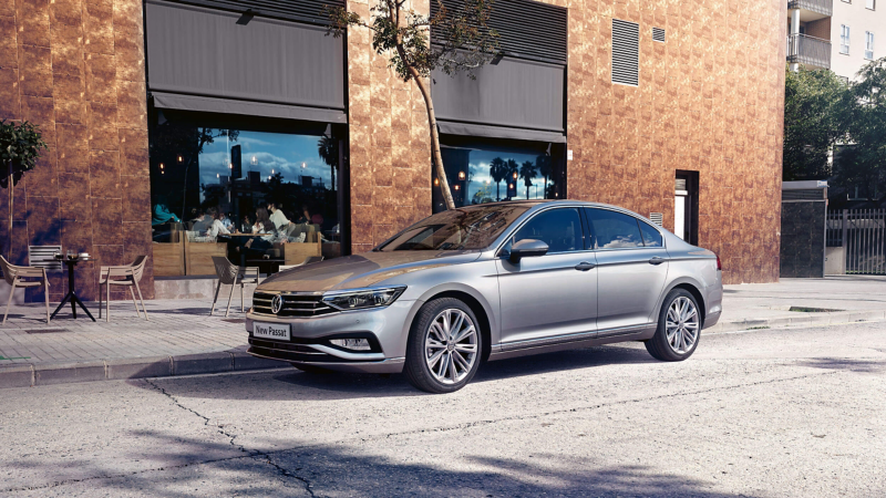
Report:
[[441,311],[427,328],[424,360],[431,375],[443,384],[456,384],[477,361],[477,329],[462,310]]

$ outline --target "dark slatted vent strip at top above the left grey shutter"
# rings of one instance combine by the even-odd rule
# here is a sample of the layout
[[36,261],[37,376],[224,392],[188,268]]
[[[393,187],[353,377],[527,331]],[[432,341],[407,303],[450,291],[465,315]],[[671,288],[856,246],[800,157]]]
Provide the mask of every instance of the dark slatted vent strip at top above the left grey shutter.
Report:
[[[177,0],[177,3],[212,7],[233,12],[249,13],[290,21],[329,24],[323,6],[344,7],[344,0]],[[248,20],[244,20],[247,21]]]

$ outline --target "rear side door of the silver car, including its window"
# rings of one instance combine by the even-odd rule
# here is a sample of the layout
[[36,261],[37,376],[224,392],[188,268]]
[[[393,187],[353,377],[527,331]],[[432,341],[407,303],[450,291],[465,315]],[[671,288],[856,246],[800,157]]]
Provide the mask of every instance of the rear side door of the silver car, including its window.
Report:
[[597,329],[600,336],[656,321],[668,276],[661,234],[625,212],[585,208],[597,256]]

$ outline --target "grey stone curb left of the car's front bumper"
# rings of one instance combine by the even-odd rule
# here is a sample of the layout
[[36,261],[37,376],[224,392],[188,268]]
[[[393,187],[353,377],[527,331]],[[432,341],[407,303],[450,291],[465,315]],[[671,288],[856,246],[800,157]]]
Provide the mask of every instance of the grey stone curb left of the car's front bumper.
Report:
[[142,356],[74,363],[12,363],[0,365],[0,388],[33,387],[92,381],[286,369],[285,362],[254,357],[243,351],[178,356]]

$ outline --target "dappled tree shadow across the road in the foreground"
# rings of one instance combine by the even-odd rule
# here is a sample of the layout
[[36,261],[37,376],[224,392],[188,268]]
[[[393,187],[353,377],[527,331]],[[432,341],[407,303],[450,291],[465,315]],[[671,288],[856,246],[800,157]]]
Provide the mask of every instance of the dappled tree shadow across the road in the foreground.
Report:
[[713,480],[680,475],[679,466],[617,466],[593,456],[564,456],[543,445],[518,459],[486,447],[446,445],[389,456],[387,437],[334,446],[292,438],[288,448],[295,449],[261,453],[233,440],[163,429],[140,430],[137,436],[153,442],[113,459],[91,458],[86,452],[60,465],[44,455],[23,456],[9,465],[20,474],[0,486],[0,492],[47,487],[47,495],[58,496],[730,496],[711,490]]

